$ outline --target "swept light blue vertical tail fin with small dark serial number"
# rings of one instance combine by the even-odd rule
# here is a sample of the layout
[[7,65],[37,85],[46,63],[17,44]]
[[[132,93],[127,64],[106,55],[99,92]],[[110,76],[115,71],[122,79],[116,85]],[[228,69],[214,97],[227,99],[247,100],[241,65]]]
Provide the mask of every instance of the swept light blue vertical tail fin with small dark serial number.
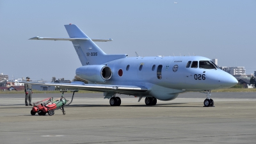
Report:
[[[65,25],[65,28],[70,38],[77,38],[72,40],[72,43],[82,65],[100,65],[127,56],[126,54],[106,54],[75,24]],[[79,40],[79,38],[86,38],[86,40]]]

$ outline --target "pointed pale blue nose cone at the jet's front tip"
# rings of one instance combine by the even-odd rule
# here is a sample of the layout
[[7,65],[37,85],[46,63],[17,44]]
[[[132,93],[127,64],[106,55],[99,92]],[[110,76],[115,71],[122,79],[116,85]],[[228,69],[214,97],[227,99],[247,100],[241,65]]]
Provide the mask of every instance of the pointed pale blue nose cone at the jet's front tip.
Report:
[[221,87],[223,88],[230,88],[238,83],[237,79],[234,76],[224,71],[221,72],[219,81]]

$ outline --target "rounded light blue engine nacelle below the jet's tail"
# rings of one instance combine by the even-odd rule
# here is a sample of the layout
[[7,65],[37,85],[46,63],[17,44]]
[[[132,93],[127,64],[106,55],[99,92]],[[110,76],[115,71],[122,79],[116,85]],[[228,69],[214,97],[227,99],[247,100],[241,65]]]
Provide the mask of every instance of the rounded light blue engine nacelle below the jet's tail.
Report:
[[93,83],[105,83],[112,72],[106,65],[86,65],[76,69],[76,76]]

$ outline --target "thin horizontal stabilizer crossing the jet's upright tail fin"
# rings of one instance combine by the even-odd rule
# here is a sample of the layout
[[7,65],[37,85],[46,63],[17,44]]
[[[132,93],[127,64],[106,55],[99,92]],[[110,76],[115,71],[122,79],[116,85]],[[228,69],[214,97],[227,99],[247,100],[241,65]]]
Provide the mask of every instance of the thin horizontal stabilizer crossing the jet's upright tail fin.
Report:
[[[35,36],[33,38],[29,38],[29,40],[89,40],[89,38],[52,38],[52,37],[40,37],[40,36]],[[92,39],[94,42],[108,42],[108,41],[113,41],[112,38],[109,39]]]

